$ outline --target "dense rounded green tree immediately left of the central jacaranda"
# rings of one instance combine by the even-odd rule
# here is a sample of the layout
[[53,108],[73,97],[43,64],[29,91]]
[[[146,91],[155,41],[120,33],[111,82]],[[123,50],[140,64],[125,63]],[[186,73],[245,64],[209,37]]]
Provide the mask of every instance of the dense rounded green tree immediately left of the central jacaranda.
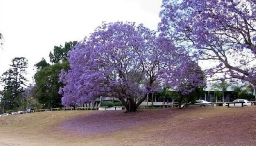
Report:
[[61,95],[58,90],[63,84],[58,82],[58,76],[62,69],[68,70],[69,63],[55,63],[44,67],[34,76],[37,85],[34,96],[45,108],[61,107]]

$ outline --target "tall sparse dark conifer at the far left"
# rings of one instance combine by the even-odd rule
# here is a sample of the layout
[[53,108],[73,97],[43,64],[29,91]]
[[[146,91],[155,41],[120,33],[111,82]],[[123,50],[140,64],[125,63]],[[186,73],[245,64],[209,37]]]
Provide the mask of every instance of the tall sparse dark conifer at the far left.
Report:
[[13,110],[15,107],[20,108],[20,93],[22,93],[26,87],[25,78],[27,59],[24,57],[15,57],[12,59],[10,69],[3,73],[1,82],[3,83],[3,101],[6,101],[6,108]]

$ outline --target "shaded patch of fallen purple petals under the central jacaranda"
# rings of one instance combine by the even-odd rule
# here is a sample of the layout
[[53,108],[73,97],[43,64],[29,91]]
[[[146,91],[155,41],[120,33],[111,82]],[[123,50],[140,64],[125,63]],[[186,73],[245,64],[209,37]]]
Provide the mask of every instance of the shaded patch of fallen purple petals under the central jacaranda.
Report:
[[123,111],[99,111],[87,115],[79,115],[63,121],[58,128],[69,130],[81,135],[105,134],[122,129],[132,129],[148,123],[154,123],[173,116],[172,110],[138,110],[124,113]]

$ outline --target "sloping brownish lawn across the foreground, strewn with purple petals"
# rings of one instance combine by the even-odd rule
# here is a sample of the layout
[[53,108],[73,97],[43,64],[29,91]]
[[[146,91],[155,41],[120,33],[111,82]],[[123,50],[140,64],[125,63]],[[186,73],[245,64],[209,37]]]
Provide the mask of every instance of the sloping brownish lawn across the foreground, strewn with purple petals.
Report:
[[256,106],[54,111],[0,117],[0,145],[255,145]]

